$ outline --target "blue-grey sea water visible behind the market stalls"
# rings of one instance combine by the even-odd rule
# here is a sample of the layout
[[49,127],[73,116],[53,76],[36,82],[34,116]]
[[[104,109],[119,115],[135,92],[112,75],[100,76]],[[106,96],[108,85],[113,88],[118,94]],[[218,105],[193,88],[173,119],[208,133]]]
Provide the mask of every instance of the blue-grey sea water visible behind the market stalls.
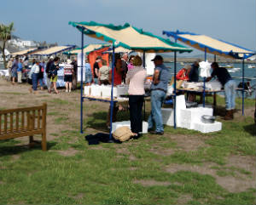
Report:
[[[173,75],[174,73],[174,63],[165,63],[165,65],[167,67],[169,67],[171,74]],[[220,66],[223,66],[224,64],[220,64]],[[236,84],[238,85],[239,83],[242,82],[242,64],[241,63],[233,63],[230,64],[233,66],[233,68],[230,69],[234,69],[236,70],[235,72],[230,72],[230,76],[233,77],[236,81]],[[245,76],[245,82],[249,82],[251,84],[251,86],[254,85],[254,87],[256,88],[256,68],[248,68],[247,65],[255,65],[256,64],[244,64],[244,76]],[[184,66],[183,63],[177,62],[176,65],[176,69],[177,71],[179,71],[180,69],[182,69]],[[239,69],[240,68],[240,69]],[[3,63],[0,63],[0,70],[3,69]],[[202,78],[200,78],[200,81],[203,81]],[[238,97],[241,97],[241,92],[237,93]],[[250,99],[255,99],[255,95],[256,95],[256,89],[254,90],[254,92],[252,93],[251,96],[249,96],[248,98]]]

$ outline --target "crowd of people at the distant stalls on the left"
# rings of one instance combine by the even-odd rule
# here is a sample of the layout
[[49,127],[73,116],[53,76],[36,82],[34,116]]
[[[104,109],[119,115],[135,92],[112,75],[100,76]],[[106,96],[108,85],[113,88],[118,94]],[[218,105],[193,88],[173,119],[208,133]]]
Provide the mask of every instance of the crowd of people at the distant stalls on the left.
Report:
[[[59,94],[57,90],[58,71],[60,70],[60,58],[50,56],[49,60],[37,60],[32,59],[29,62],[27,56],[16,56],[11,58],[8,62],[9,69],[9,81],[15,85],[15,83],[22,83],[22,80],[30,83],[32,87],[30,92],[37,94],[38,86],[41,90],[44,90],[44,85],[47,86],[48,92]],[[64,82],[66,92],[70,93],[72,89],[76,87],[76,74],[77,74],[77,60],[67,60],[63,64],[64,69]],[[44,82],[45,77],[45,82]]]

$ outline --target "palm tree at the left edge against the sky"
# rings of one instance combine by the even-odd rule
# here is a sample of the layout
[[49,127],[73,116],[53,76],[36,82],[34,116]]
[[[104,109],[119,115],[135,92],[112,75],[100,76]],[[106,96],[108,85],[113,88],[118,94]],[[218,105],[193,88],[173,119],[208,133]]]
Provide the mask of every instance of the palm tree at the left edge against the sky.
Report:
[[4,49],[7,41],[11,39],[12,31],[14,31],[14,22],[11,22],[9,26],[0,24],[0,41],[2,41],[2,44],[3,44],[3,46],[0,45],[0,49],[3,54],[3,65],[5,69],[6,69],[6,59],[5,59]]

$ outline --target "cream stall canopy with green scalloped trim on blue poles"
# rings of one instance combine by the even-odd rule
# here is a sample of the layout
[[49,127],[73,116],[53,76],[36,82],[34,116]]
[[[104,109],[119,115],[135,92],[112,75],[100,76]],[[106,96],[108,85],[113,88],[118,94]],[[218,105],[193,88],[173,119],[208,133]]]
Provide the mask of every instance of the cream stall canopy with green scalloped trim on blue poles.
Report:
[[[164,53],[164,52],[191,52],[191,48],[186,48],[177,43],[172,43],[169,39],[157,37],[152,33],[137,29],[134,26],[125,24],[124,26],[113,26],[90,22],[69,22],[70,25],[76,27],[82,33],[82,56],[84,48],[84,34],[113,44],[113,60],[112,75],[114,67],[114,48],[119,46],[133,51],[148,53]],[[82,57],[83,68],[83,57]],[[82,70],[81,70],[82,71]],[[81,72],[82,74],[82,72]],[[83,133],[83,80],[81,80],[81,121],[80,132]],[[110,101],[110,132],[109,139],[112,139],[112,117],[113,117],[113,77]],[[175,110],[175,109],[174,109]]]

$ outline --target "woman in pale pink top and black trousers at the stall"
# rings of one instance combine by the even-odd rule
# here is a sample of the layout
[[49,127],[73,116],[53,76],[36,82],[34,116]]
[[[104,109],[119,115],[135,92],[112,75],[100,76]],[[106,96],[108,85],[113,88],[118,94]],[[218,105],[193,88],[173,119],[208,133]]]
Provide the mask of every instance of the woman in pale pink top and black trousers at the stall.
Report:
[[129,106],[131,132],[139,137],[139,133],[143,131],[143,101],[144,101],[144,83],[147,77],[147,72],[142,66],[143,60],[138,55],[134,57],[133,69],[126,74],[125,83],[129,84]]

